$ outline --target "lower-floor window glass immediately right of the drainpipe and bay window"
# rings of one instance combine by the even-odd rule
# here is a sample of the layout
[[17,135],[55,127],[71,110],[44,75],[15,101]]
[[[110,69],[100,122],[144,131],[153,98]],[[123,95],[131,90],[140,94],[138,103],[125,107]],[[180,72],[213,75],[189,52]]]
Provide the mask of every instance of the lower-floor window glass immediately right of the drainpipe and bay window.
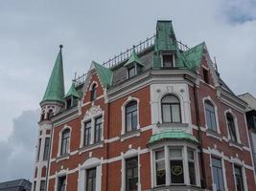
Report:
[[224,191],[224,181],[222,174],[221,159],[212,158],[213,181],[217,191]]

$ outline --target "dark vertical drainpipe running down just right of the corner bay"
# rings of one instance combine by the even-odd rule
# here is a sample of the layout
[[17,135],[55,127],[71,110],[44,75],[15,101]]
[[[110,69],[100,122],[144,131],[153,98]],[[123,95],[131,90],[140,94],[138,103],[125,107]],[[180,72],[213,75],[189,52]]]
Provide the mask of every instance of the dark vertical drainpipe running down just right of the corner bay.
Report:
[[199,116],[199,105],[198,105],[198,88],[197,84],[194,84],[194,97],[195,97],[195,106],[196,106],[196,116],[197,116],[197,126],[198,126],[198,140],[199,146],[198,149],[200,151],[200,163],[201,163],[201,172],[202,172],[202,179],[201,179],[201,188],[205,189],[207,187],[206,182],[206,172],[204,168],[204,159],[203,159],[203,151],[202,151],[202,136],[201,136],[201,128],[200,128],[200,116]]

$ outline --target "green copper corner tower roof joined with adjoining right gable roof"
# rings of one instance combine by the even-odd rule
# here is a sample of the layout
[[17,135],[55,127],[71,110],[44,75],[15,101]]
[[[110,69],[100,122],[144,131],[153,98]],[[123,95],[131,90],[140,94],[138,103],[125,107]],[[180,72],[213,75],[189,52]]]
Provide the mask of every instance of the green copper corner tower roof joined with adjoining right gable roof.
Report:
[[153,68],[161,68],[161,53],[175,54],[175,67],[198,70],[205,43],[181,52],[178,48],[172,21],[158,21],[154,41]]

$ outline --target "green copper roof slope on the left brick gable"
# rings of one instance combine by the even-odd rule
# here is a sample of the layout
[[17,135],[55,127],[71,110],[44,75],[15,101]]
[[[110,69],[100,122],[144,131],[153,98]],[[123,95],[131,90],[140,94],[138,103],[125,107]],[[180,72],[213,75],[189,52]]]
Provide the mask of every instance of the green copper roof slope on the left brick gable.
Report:
[[104,87],[110,86],[112,84],[113,72],[105,68],[103,65],[96,63],[95,61],[92,61],[92,64],[94,65],[96,73],[100,77],[102,85]]

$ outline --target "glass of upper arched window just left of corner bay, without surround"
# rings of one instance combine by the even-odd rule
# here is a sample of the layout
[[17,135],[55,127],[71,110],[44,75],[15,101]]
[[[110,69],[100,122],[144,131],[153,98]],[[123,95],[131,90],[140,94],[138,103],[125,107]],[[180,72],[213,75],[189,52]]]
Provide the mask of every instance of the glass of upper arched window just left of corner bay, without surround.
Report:
[[126,106],[126,132],[134,131],[138,125],[137,101],[130,101]]

